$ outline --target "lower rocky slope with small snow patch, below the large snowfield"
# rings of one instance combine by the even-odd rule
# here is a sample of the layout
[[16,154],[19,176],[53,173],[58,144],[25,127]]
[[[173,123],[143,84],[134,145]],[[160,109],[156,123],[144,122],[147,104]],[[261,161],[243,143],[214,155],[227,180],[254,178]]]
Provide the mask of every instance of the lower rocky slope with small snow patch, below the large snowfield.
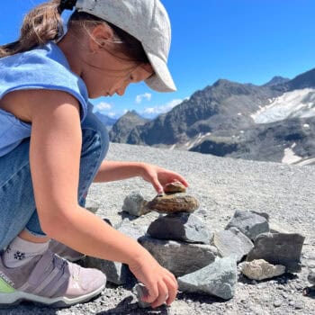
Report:
[[231,137],[208,135],[190,151],[288,164],[311,164],[315,157],[315,117],[257,124]]

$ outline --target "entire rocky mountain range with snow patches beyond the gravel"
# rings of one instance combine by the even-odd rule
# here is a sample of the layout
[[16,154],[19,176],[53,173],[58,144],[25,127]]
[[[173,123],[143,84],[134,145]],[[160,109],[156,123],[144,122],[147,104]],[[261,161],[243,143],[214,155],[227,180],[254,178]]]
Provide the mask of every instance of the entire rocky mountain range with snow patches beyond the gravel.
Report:
[[312,69],[292,80],[275,76],[260,86],[220,79],[170,112],[128,130],[117,128],[115,135],[129,144],[308,163],[315,157],[314,116]]

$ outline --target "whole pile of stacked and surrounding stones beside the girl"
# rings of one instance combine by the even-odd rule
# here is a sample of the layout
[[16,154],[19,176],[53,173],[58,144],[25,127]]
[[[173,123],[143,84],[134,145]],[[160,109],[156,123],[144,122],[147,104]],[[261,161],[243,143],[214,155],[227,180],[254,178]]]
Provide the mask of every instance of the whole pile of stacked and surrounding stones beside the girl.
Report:
[[[229,300],[235,293],[238,271],[260,281],[301,270],[301,234],[270,229],[268,215],[256,211],[236,211],[224,230],[213,232],[193,213],[198,207],[199,202],[179,182],[166,185],[165,193],[149,202],[141,193],[132,192],[125,198],[122,211],[135,217],[149,211],[161,214],[148,229],[140,229],[128,219],[115,228],[138,239],[176,276],[179,291],[184,293]],[[85,266],[103,270],[114,284],[136,284],[128,266],[121,263],[86,257]],[[146,290],[143,284],[136,284],[134,290],[139,305],[147,307],[141,302]]]

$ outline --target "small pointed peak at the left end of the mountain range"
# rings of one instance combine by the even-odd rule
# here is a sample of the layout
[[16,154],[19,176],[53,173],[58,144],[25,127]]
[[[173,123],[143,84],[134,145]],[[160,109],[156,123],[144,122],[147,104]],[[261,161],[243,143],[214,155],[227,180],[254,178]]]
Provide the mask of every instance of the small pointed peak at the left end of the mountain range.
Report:
[[112,130],[110,131],[110,140],[112,142],[125,143],[128,140],[131,130],[137,126],[142,126],[148,121],[148,119],[141,117],[136,111],[126,112],[113,124]]

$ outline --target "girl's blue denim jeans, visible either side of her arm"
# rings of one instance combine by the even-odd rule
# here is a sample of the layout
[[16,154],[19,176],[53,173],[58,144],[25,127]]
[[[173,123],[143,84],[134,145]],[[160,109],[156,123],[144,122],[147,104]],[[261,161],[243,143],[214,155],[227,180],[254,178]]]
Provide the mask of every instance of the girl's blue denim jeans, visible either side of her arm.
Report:
[[[77,202],[85,206],[85,197],[105,157],[108,132],[92,111],[82,125],[82,148]],[[44,237],[36,211],[30,171],[30,138],[0,157],[0,250],[23,230]]]

